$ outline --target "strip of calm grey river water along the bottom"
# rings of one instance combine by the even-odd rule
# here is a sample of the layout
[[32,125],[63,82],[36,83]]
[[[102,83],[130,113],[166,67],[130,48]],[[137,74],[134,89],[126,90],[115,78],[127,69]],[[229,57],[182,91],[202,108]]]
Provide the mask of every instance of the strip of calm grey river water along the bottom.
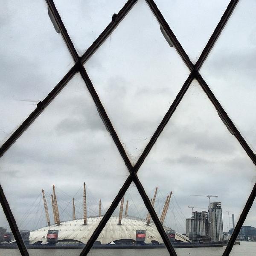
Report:
[[[176,249],[178,256],[221,256],[225,247]],[[81,250],[29,250],[30,256],[79,256]],[[166,249],[108,249],[91,250],[90,256],[169,256]],[[241,242],[234,245],[230,256],[255,256],[256,242]],[[0,249],[0,256],[20,256],[17,249]]]

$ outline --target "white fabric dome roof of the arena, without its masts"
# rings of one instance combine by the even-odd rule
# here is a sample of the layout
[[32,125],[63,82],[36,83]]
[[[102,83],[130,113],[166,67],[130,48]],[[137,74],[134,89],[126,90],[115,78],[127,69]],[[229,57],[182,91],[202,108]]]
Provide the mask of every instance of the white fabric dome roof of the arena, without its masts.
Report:
[[[42,227],[41,229],[32,231],[30,233],[29,242],[34,244],[35,242],[42,241],[42,244],[47,243],[48,230],[59,230],[58,241],[64,239],[72,239],[81,241],[86,244],[93,234],[93,231],[99,225],[102,217],[90,217],[87,218],[87,225],[84,225],[83,219],[75,221],[64,221],[59,226],[51,225],[49,227]],[[171,230],[168,227],[164,227],[165,230]],[[139,218],[127,217],[122,218],[121,225],[118,225],[118,217],[111,217],[106,226],[102,230],[101,234],[97,238],[102,244],[107,244],[114,240],[119,239],[136,239],[136,230],[146,230],[146,243],[150,243],[151,240],[157,240],[163,243],[160,234],[157,231],[154,223],[146,225],[146,221]],[[176,240],[189,242],[186,236],[176,232]]]

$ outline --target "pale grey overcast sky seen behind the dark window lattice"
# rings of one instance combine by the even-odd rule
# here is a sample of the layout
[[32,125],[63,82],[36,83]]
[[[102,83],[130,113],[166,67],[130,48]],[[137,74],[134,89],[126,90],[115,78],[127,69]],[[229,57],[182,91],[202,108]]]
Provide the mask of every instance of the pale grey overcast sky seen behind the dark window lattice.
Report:
[[[61,35],[52,26],[45,2],[27,2],[3,1],[1,5],[2,143],[73,66]],[[124,3],[116,0],[107,6],[107,1],[76,1],[71,5],[69,1],[56,1],[80,55]],[[228,1],[156,3],[195,62]],[[239,1],[201,68],[202,76],[252,148],[256,147],[255,11],[256,3],[252,0]],[[188,77],[188,68],[175,48],[165,41],[143,0],[138,1],[84,66],[134,165]],[[81,186],[85,181],[88,207],[93,215],[100,198],[104,209],[108,209],[128,177],[128,170],[79,74],[4,154],[0,172],[0,182],[15,218],[20,228],[26,229],[46,224],[43,203],[40,204],[41,189],[45,189],[48,197],[55,184],[60,207],[70,211],[71,205],[67,204],[73,196],[81,205]],[[184,232],[185,217],[191,215],[189,205],[205,209],[208,206],[206,197],[190,195],[218,195],[227,231],[226,211],[233,212],[237,221],[256,181],[255,174],[250,158],[196,81],[138,172],[149,198],[154,188],[159,187],[158,214],[166,196],[173,191],[165,224],[180,232]],[[139,203],[134,186],[125,198],[134,201],[130,214],[145,218],[147,211]],[[32,205],[35,210],[25,214]],[[177,210],[179,206],[182,213]],[[247,225],[256,226],[254,208]],[[24,214],[28,216],[26,222]],[[42,221],[37,223],[35,216],[41,214]],[[70,214],[62,216],[67,219]],[[0,212],[0,226],[6,225]]]

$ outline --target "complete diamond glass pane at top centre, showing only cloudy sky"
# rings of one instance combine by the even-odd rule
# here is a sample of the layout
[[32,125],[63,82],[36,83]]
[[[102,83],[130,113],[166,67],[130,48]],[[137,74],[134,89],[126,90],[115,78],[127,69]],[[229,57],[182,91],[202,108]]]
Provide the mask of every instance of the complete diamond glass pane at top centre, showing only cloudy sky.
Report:
[[188,68],[169,46],[144,0],[134,5],[85,68],[136,163],[186,80]]

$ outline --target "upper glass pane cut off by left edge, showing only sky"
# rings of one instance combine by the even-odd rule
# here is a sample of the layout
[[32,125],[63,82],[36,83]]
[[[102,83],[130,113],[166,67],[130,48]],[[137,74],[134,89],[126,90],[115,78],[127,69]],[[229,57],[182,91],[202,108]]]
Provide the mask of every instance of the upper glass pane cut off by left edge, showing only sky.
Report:
[[73,65],[44,0],[1,2],[0,145]]

